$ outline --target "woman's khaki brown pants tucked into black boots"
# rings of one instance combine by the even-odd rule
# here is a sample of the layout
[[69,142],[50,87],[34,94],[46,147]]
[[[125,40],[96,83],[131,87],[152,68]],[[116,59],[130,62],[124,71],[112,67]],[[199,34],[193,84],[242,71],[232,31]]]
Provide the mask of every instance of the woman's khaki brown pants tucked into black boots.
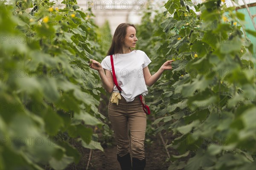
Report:
[[139,96],[136,96],[132,102],[126,102],[125,98],[121,95],[118,105],[109,102],[108,116],[116,136],[117,154],[119,156],[125,156],[129,152],[129,125],[132,156],[140,160],[144,159],[144,140],[147,120]]

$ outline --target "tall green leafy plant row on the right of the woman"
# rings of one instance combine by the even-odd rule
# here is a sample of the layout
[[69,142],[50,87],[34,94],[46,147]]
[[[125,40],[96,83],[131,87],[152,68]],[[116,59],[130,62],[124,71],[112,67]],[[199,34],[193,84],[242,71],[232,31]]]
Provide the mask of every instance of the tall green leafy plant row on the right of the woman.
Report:
[[167,148],[180,154],[169,169],[255,169],[255,51],[240,31],[244,14],[221,0],[169,0],[165,8],[153,20],[145,12],[138,48],[154,61],[153,72],[175,60],[149,96],[160,116],[155,131],[174,134]]

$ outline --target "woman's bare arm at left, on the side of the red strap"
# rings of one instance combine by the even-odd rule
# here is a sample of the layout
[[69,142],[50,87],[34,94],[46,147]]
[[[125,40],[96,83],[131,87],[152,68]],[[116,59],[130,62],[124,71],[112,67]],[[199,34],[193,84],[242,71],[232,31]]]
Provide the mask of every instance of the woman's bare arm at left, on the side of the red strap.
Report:
[[89,64],[90,68],[99,72],[99,77],[102,80],[102,86],[106,91],[111,93],[114,88],[113,77],[111,71],[103,69],[102,65],[94,59],[90,59],[92,62]]

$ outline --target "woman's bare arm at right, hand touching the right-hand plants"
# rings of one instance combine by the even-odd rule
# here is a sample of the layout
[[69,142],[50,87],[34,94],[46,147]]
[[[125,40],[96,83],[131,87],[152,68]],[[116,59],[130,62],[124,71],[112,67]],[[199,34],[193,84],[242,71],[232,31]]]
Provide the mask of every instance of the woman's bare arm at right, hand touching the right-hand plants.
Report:
[[155,82],[161,77],[163,74],[163,71],[165,70],[171,70],[172,69],[172,62],[174,60],[169,60],[163,63],[163,65],[159,68],[159,70],[151,76],[150,71],[148,69],[148,66],[143,68],[143,74],[144,74],[144,79],[145,83],[147,86],[154,85]]

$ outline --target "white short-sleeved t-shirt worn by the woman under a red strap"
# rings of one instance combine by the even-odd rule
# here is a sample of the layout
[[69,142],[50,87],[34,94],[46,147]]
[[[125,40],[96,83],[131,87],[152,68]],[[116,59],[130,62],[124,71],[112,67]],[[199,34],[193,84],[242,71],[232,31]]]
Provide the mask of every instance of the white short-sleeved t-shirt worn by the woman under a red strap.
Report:
[[[143,96],[148,94],[143,68],[148,66],[151,60],[144,51],[134,50],[127,54],[114,54],[113,62],[117,84],[122,89],[121,95],[127,102],[133,101],[140,94]],[[101,65],[112,73],[110,56],[105,57]],[[113,92],[119,92],[116,85]]]

